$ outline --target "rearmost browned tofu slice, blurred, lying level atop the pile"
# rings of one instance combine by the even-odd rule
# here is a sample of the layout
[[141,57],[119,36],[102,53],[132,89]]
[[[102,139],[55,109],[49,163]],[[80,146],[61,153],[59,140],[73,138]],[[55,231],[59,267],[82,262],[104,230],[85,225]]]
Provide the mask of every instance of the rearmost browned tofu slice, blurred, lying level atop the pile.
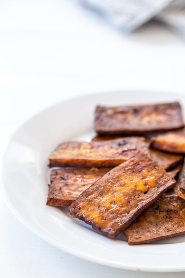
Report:
[[178,102],[118,107],[97,106],[98,134],[141,134],[184,127]]

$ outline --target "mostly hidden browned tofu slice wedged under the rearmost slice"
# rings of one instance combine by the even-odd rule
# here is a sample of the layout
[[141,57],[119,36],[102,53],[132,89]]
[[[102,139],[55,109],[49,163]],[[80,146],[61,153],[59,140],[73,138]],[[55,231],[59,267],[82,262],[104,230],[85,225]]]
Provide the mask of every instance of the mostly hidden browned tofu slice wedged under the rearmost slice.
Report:
[[[139,137],[139,136],[121,137],[121,138],[126,140],[127,142],[130,142],[130,144],[134,144],[138,148],[138,150],[141,150],[146,154],[148,153],[148,156],[159,166],[164,168],[166,171],[169,171],[170,169],[183,164],[183,155],[168,154],[158,150],[148,149],[150,144],[149,138]],[[92,141],[105,141],[105,140],[111,140],[111,136],[96,136],[92,139]]]

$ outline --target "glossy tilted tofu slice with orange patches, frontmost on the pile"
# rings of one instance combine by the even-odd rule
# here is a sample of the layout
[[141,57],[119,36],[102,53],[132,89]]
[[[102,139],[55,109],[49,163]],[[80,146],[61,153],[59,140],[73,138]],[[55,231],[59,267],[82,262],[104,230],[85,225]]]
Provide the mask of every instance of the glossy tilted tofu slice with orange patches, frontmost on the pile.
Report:
[[94,230],[116,238],[175,183],[164,169],[138,152],[86,189],[68,210]]

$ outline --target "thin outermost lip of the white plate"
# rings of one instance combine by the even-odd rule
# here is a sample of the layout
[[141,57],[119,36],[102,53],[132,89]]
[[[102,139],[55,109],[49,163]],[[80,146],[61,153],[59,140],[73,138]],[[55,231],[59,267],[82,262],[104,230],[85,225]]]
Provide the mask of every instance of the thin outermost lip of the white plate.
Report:
[[[132,92],[132,93],[156,93],[156,91],[146,91],[146,90],[124,90],[124,91],[115,91],[114,93],[128,93],[128,92]],[[100,92],[100,93],[91,93],[91,94],[83,94],[83,95],[78,95],[75,97],[71,97],[68,99],[65,99],[63,101],[60,101],[59,103],[54,103],[48,107],[46,107],[45,109],[41,110],[40,112],[34,114],[33,116],[29,117],[27,120],[25,120],[22,124],[20,124],[20,126],[18,126],[18,128],[16,128],[16,130],[13,132],[13,134],[10,136],[9,138],[9,142],[6,145],[6,148],[3,152],[2,155],[2,167],[1,167],[1,186],[0,186],[0,192],[2,197],[4,198],[4,200],[6,201],[7,206],[9,207],[10,211],[14,214],[14,216],[24,225],[26,226],[29,230],[31,230],[31,232],[33,232],[34,234],[36,234],[37,236],[39,236],[39,238],[43,239],[44,241],[46,241],[47,243],[51,244],[52,246],[55,246],[57,249],[60,249],[64,252],[69,253],[70,255],[74,255],[80,259],[84,259],[93,263],[98,263],[101,265],[105,265],[105,266],[109,266],[109,267],[117,267],[120,269],[125,269],[125,270],[132,270],[132,271],[143,271],[143,272],[183,272],[185,271],[185,266],[184,267],[151,267],[151,266],[142,266],[142,270],[140,270],[139,266],[135,266],[135,265],[128,265],[128,264],[115,264],[115,262],[110,262],[109,260],[105,260],[105,259],[101,259],[101,258],[96,258],[92,255],[88,255],[88,254],[84,254],[84,252],[79,252],[76,251],[75,249],[70,249],[68,247],[66,247],[64,244],[60,243],[60,247],[55,243],[55,241],[50,238],[47,234],[44,234],[42,232],[40,232],[37,228],[34,227],[34,225],[30,224],[29,221],[25,220],[24,217],[22,215],[19,214],[19,212],[16,211],[16,209],[13,207],[13,205],[11,204],[11,201],[9,200],[5,190],[4,190],[4,182],[3,182],[3,172],[4,172],[4,166],[3,166],[3,162],[6,158],[6,153],[9,149],[10,143],[14,137],[14,135],[19,132],[19,130],[21,128],[23,128],[23,126],[25,124],[28,124],[29,121],[33,120],[34,118],[38,117],[40,114],[42,114],[43,112],[47,112],[47,110],[49,110],[51,107],[55,107],[55,106],[60,106],[61,104],[64,104],[65,102],[69,102],[71,100],[75,100],[75,99],[80,99],[80,98],[84,98],[84,97],[89,97],[92,95],[106,95],[107,93],[113,93],[113,91],[109,91],[109,92]],[[170,95],[170,93],[167,92],[160,92],[158,91],[157,93],[162,93],[163,95]],[[175,94],[176,98],[178,99],[178,96],[184,96],[183,94]],[[185,97],[185,96],[184,96]],[[141,245],[140,245],[141,246]]]

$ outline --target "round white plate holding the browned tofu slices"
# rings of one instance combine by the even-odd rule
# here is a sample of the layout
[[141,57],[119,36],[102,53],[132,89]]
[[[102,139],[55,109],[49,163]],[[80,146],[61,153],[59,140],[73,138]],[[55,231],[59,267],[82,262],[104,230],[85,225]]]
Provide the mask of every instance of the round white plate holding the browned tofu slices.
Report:
[[109,239],[66,208],[46,206],[47,158],[60,142],[90,140],[97,104],[120,105],[179,100],[185,96],[154,92],[118,92],[80,96],[48,108],[23,124],[11,138],[3,159],[2,193],[11,210],[50,244],[95,263],[130,270],[185,271],[185,236],[155,244],[129,246],[123,235]]

